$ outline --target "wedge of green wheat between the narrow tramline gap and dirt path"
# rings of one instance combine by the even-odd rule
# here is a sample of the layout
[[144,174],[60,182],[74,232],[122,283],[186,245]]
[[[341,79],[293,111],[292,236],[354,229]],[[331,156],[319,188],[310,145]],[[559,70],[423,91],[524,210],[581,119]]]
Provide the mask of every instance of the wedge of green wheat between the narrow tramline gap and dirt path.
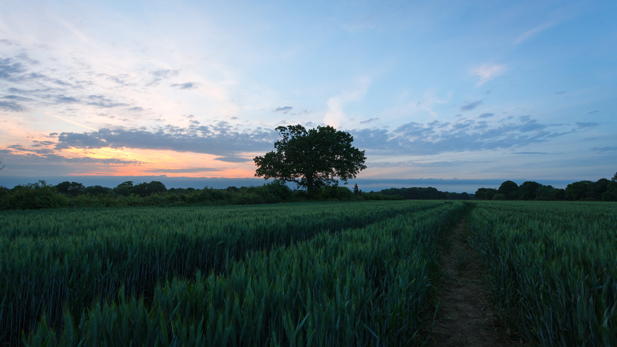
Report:
[[465,205],[382,204],[327,206],[417,211],[273,245],[227,262],[220,274],[197,272],[160,282],[149,297],[120,290],[115,301],[96,301],[83,313],[65,312],[62,329],[43,318],[23,342],[37,347],[421,344],[433,281],[441,276],[439,235],[455,224]]

